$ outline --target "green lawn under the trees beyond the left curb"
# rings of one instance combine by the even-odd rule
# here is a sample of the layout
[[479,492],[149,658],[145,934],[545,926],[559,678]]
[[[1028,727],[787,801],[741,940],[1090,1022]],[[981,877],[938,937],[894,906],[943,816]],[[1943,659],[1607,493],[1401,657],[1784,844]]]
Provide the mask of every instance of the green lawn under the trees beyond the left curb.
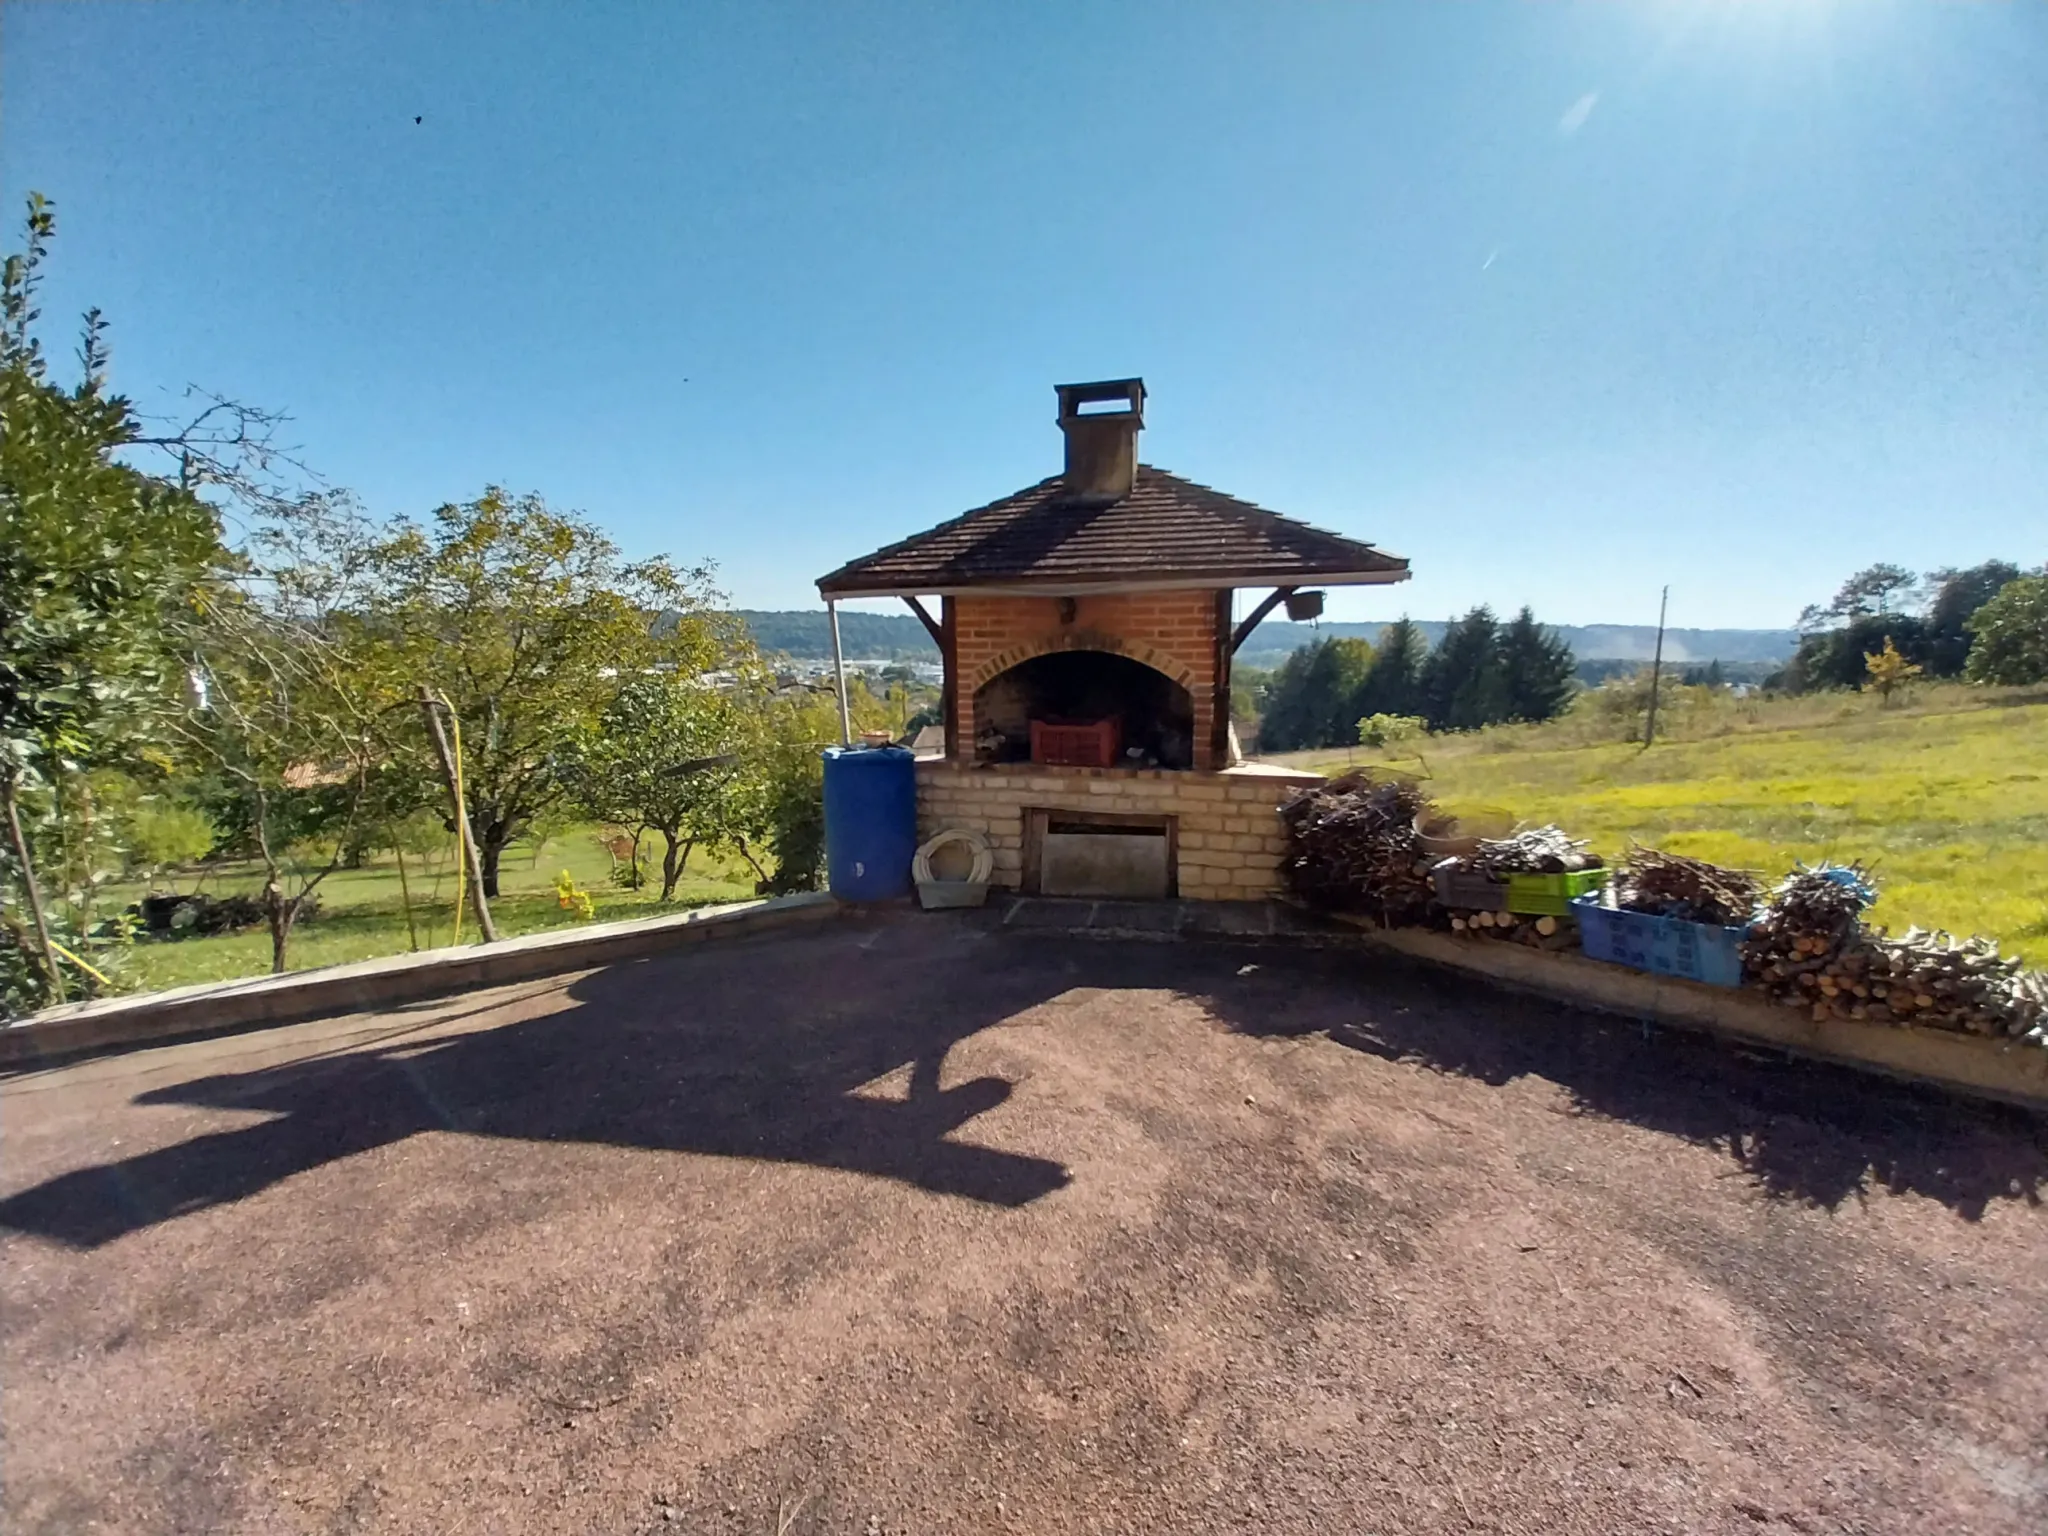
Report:
[[[492,903],[500,938],[586,922],[580,911],[563,909],[555,899],[555,877],[563,868],[582,889],[590,891],[596,905],[592,922],[653,918],[664,911],[655,899],[659,881],[639,891],[614,887],[610,883],[610,856],[598,846],[594,829],[580,827],[549,840],[539,856],[524,844],[506,850],[500,868],[502,895]],[[412,885],[418,946],[436,948],[453,942],[455,870],[451,860],[440,856],[422,866],[420,860],[408,858],[406,872]],[[158,889],[190,891],[197,883],[195,874],[186,874],[176,881],[160,881]],[[262,872],[254,864],[217,866],[205,874],[203,889],[215,895],[260,891]],[[115,887],[106,893],[106,909],[127,905],[139,895],[141,887]],[[676,901],[666,911],[752,897],[752,868],[743,862],[725,864],[698,852],[690,856],[682,885],[676,887]],[[322,881],[319,899],[319,915],[293,928],[289,950],[293,971],[369,961],[379,954],[406,954],[412,948],[397,860],[389,854],[367,868],[336,870]],[[465,909],[463,942],[471,940],[475,940],[475,918]],[[127,991],[160,991],[195,981],[260,977],[268,971],[270,934],[264,928],[250,928],[213,938],[139,938],[123,954],[119,981]]]

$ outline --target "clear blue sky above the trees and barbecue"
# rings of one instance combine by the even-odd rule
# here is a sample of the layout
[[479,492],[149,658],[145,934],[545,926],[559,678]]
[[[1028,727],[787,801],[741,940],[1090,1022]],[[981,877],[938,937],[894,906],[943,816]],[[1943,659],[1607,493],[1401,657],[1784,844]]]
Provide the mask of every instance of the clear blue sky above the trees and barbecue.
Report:
[[1337,618],[2048,557],[2032,0],[8,0],[29,188],[53,340],[106,309],[141,408],[748,606],[1051,473],[1053,383],[1124,373],[1149,463],[1415,561]]

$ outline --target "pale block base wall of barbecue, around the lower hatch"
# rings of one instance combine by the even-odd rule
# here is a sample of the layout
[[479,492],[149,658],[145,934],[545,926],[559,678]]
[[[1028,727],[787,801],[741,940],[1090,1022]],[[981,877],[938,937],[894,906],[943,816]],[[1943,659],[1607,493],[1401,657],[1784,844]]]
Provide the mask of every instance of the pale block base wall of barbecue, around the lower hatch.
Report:
[[1190,774],[1169,768],[967,768],[918,764],[918,838],[973,827],[995,854],[993,883],[1024,877],[1024,811],[1126,811],[1180,821],[1180,893],[1255,901],[1280,893],[1280,801],[1317,774],[1237,770]]

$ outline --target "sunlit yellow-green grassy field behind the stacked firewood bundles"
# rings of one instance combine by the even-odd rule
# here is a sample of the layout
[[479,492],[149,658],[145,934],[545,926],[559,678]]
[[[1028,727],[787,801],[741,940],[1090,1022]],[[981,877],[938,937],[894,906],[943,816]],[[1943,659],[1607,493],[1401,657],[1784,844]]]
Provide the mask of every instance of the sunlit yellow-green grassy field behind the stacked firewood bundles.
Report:
[[[1782,874],[1794,860],[1866,860],[1872,920],[1989,934],[2048,965],[2048,702],[2040,690],[1929,688],[1784,700],[1681,723],[1694,739],[1575,743],[1583,723],[1507,727],[1350,754],[1423,772],[1450,811],[1556,821],[1610,858],[1630,840]],[[1300,754],[1341,772],[1346,754]]]

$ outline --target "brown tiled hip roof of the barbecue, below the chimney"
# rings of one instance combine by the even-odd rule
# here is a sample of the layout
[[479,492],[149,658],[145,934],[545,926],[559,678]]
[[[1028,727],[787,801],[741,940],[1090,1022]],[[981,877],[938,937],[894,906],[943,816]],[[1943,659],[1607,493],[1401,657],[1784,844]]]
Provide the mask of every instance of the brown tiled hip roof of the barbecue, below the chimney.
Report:
[[1366,586],[1405,582],[1399,555],[1264,506],[1137,467],[1114,502],[1075,500],[1065,479],[965,512],[829,575],[827,598],[918,592],[1118,592],[1186,586]]

